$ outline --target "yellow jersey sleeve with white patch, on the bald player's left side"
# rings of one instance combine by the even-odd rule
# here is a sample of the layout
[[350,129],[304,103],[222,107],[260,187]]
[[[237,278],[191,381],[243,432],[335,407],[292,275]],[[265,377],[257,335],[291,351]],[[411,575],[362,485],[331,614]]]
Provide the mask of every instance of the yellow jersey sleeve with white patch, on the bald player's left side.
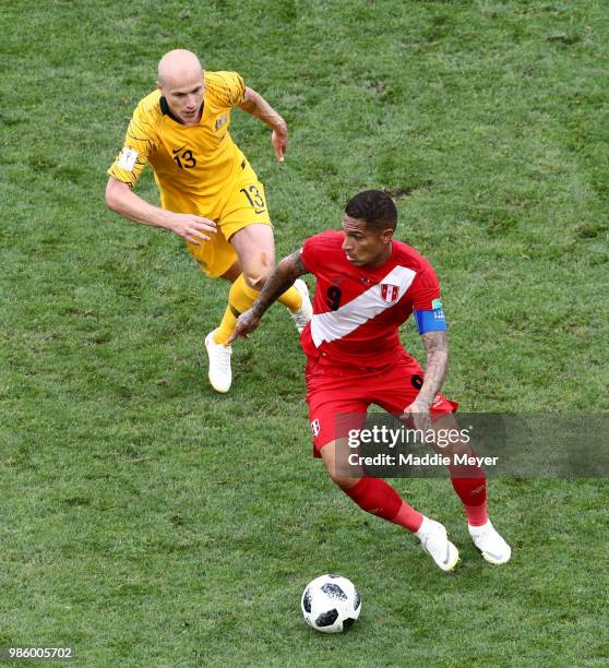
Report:
[[140,105],[127,129],[122,151],[108,169],[108,175],[133,188],[148,157],[156,151],[157,142],[156,124],[152,116]]

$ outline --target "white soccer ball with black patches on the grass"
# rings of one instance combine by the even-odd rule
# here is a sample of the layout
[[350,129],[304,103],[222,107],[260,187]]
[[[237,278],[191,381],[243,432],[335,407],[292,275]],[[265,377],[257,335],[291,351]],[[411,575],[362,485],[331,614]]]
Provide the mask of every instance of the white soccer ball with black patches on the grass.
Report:
[[354,583],[342,575],[320,575],[302,592],[304,621],[322,633],[350,629],[361,612],[361,596]]

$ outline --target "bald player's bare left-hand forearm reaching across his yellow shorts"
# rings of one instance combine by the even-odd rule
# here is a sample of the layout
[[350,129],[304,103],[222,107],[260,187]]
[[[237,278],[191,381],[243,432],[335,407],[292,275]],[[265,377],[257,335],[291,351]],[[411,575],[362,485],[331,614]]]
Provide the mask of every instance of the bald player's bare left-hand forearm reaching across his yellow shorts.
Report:
[[195,246],[208,240],[208,235],[216,231],[216,224],[213,220],[202,216],[165,211],[159,206],[148,204],[138,196],[127,183],[114,177],[109,177],[106,186],[106,205],[126,218],[144,225],[163,227]]

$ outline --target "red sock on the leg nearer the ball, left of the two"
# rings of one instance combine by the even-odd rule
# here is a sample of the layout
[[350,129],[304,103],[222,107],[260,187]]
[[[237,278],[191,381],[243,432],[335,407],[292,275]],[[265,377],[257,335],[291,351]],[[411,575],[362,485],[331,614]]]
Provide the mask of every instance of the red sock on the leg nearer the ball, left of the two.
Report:
[[357,485],[343,491],[367,513],[399,524],[410,532],[417,532],[421,526],[422,515],[381,478],[361,478]]

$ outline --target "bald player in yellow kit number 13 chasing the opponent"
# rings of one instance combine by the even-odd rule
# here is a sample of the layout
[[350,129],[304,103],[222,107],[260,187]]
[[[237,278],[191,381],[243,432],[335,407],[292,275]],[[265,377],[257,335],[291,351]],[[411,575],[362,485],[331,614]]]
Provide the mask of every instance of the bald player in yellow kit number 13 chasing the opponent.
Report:
[[[208,276],[231,282],[224,318],[205,338],[210,382],[217,392],[228,392],[232,380],[231,348],[225,344],[275,265],[264,188],[228,132],[234,107],[273,130],[271,142],[283,162],[286,122],[239,74],[203,71],[196,56],[184,49],[165,53],[157,90],[133,112],[106,188],[109,208],[182,237]],[[146,164],[154,170],[162,207],[133,192]],[[302,331],[312,312],[304,282],[279,301]]]

